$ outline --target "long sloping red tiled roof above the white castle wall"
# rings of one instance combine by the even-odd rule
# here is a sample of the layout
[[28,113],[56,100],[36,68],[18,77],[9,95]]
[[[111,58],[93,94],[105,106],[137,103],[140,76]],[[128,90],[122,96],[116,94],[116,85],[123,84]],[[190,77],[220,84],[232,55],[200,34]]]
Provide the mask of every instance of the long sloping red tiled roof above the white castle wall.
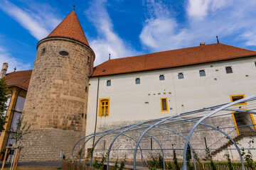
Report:
[[[178,50],[156,52],[147,55],[108,60],[94,68],[91,77],[153,69],[181,67],[191,64],[217,62],[240,57],[256,56],[256,52],[224,44],[201,45]],[[105,70],[105,72],[102,72]]]

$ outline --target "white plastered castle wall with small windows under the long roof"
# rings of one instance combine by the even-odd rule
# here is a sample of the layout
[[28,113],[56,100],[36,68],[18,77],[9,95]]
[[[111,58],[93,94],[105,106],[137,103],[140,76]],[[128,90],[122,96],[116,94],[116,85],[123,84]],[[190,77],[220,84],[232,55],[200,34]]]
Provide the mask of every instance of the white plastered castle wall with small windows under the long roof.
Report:
[[[96,115],[96,132],[100,132],[143,120],[163,118],[229,103],[230,95],[245,94],[245,97],[255,95],[255,61],[256,57],[250,57],[189,67],[99,77],[98,99],[98,78],[92,77],[88,97],[86,135],[94,132]],[[233,73],[226,74],[225,67],[232,67]],[[199,76],[201,69],[205,70],[206,77]],[[183,73],[184,79],[178,79],[180,72]],[[164,74],[164,81],[159,81],[161,74]],[[135,84],[136,78],[140,78],[141,84]],[[107,86],[107,80],[111,80],[111,86]],[[107,117],[99,117],[96,113],[100,98],[110,98],[110,115]],[[168,111],[161,112],[160,98],[168,99]],[[247,106],[235,106],[235,108],[239,107],[247,108]],[[223,121],[215,121],[215,124],[219,128],[234,125],[231,115],[227,115]],[[216,137],[212,140],[210,136],[207,138],[209,145],[216,140]],[[201,147],[203,145],[202,143]],[[87,147],[91,146],[91,143],[87,145]]]

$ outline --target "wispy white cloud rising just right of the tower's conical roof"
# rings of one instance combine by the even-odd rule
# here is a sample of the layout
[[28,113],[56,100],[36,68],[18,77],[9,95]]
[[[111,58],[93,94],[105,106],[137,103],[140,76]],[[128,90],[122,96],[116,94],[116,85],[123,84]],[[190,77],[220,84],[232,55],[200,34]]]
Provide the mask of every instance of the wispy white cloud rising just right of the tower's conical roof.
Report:
[[98,34],[97,39],[90,42],[90,47],[96,55],[95,65],[108,60],[109,54],[111,54],[111,58],[129,57],[137,54],[127,42],[124,42],[114,32],[112,20],[107,13],[106,1],[93,1],[85,13],[97,29]]

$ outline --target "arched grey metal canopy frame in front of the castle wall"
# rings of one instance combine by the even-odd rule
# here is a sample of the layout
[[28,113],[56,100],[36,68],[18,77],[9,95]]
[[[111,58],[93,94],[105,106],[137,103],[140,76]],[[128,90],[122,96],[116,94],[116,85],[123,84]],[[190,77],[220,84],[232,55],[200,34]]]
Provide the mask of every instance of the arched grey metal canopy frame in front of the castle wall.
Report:
[[[246,108],[250,108],[247,110],[242,110],[238,108],[235,108],[235,105],[238,103],[245,103],[247,102]],[[236,106],[238,107],[238,106]],[[149,150],[153,150],[151,149],[142,149],[142,147],[140,146],[140,142],[142,141],[142,139],[146,136],[149,137],[151,139],[153,139],[157,145],[159,146],[160,149],[154,149],[155,150],[159,150],[161,152],[161,156],[163,157],[163,162],[165,159],[165,154],[164,151],[168,151],[168,150],[173,150],[174,148],[171,149],[171,147],[169,148],[164,148],[161,144],[161,141],[159,141],[157,139],[158,136],[161,136],[163,134],[160,135],[155,135],[155,134],[150,134],[151,130],[161,130],[164,131],[166,130],[168,132],[168,134],[166,135],[178,135],[178,137],[181,137],[181,139],[184,141],[184,146],[181,149],[177,149],[177,150],[183,150],[183,167],[182,169],[185,170],[187,169],[187,165],[186,165],[186,153],[187,153],[187,149],[188,146],[190,147],[190,149],[193,151],[195,149],[195,147],[192,146],[190,140],[191,140],[191,136],[193,135],[194,132],[201,132],[201,131],[207,131],[207,130],[215,130],[220,132],[221,134],[223,134],[225,137],[227,137],[230,142],[233,143],[233,145],[235,146],[235,149],[237,150],[239,157],[240,157],[240,162],[242,163],[242,169],[245,170],[245,165],[242,159],[242,154],[240,152],[240,148],[238,147],[238,145],[236,144],[236,142],[233,140],[232,137],[230,137],[230,135],[228,135],[227,132],[224,132],[223,130],[226,129],[230,129],[230,128],[238,128],[238,126],[229,126],[229,127],[224,127],[224,128],[218,128],[218,127],[214,127],[213,125],[209,125],[208,123],[206,123],[206,120],[210,119],[210,118],[218,118],[221,116],[227,116],[230,114],[234,114],[234,113],[250,113],[252,115],[256,115],[256,95],[255,96],[250,96],[247,98],[242,98],[238,101],[234,101],[232,103],[225,103],[223,105],[219,105],[219,106],[213,106],[210,108],[203,108],[203,109],[199,109],[199,110],[195,110],[195,111],[188,111],[188,112],[184,112],[184,113],[180,113],[177,115],[172,115],[166,118],[159,118],[159,119],[155,119],[155,120],[147,120],[144,121],[142,123],[137,123],[134,125],[126,125],[120,128],[115,128],[112,130],[105,130],[102,132],[97,132],[95,134],[91,134],[91,135],[87,135],[85,137],[83,137],[82,139],[80,139],[75,146],[73,147],[73,151],[71,154],[71,161],[73,161],[73,154],[75,152],[75,150],[78,150],[80,153],[84,150],[85,145],[87,144],[87,142],[89,142],[90,140],[92,140],[93,138],[97,137],[97,141],[95,142],[94,146],[92,147],[92,154],[90,157],[90,166],[92,166],[92,157],[93,157],[93,152],[95,147],[97,147],[97,144],[102,140],[102,138],[107,137],[109,135],[115,135],[114,139],[112,139],[111,143],[110,143],[110,147],[108,149],[97,149],[97,150],[107,150],[107,170],[109,169],[109,163],[110,163],[110,152],[112,150],[119,150],[122,152],[125,152],[125,149],[112,149],[114,142],[117,141],[117,138],[120,136],[123,137],[127,137],[130,140],[134,141],[136,143],[135,147],[133,149],[127,149],[129,151],[134,151],[134,156],[133,156],[133,162],[134,162],[134,169],[136,169],[137,166],[137,162],[136,162],[136,158],[137,158],[137,151],[140,151],[141,154],[141,159],[142,159],[142,166],[143,166],[143,162],[146,163],[146,166],[149,166],[149,164],[146,162],[146,159],[143,156],[143,151],[149,151]],[[193,123],[193,127],[186,131],[186,132],[177,132],[174,129],[171,129],[172,125],[177,125],[179,123]],[[206,129],[203,130],[196,130],[196,128],[198,128],[198,125],[201,125],[201,127],[206,127]],[[255,124],[250,124],[255,126]],[[167,128],[165,126],[168,126]],[[246,125],[242,125],[242,126],[246,126]],[[171,134],[169,133],[171,132]],[[136,134],[136,135],[134,135]],[[187,135],[186,135],[187,134]],[[82,142],[82,145],[79,145],[80,142]],[[216,148],[217,149],[217,148]],[[81,154],[79,157],[79,162],[81,160]],[[194,167],[196,169],[196,161],[195,161],[195,157],[194,157],[194,153],[193,153],[193,164]],[[163,164],[164,169],[165,169],[165,164]]]

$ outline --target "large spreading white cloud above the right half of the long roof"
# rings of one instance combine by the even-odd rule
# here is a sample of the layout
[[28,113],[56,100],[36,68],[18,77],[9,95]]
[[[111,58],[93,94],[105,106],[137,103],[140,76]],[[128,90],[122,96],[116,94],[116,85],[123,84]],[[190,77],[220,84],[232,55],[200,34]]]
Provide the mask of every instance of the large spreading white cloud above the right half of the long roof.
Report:
[[240,38],[246,45],[256,45],[255,1],[188,0],[186,4],[186,19],[178,23],[163,1],[146,1],[149,18],[139,35],[145,49],[156,52],[191,47],[203,41],[215,43],[216,35],[220,42],[229,36],[233,41]]

